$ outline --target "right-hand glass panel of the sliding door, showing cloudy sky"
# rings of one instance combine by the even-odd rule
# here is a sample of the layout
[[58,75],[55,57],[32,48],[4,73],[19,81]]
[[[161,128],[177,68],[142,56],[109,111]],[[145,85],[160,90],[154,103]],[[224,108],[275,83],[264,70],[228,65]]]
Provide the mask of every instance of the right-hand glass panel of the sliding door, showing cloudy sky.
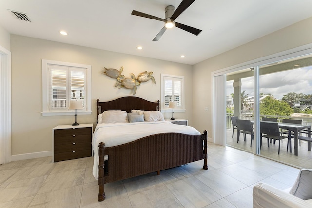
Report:
[[[260,66],[259,70],[260,116],[277,122],[312,125],[312,55],[280,60]],[[283,139],[268,145],[263,140],[260,154],[301,168],[312,168],[312,151],[308,142]],[[302,135],[306,135],[301,133]],[[295,155],[294,147],[298,149]],[[291,150],[290,150],[291,147]]]

